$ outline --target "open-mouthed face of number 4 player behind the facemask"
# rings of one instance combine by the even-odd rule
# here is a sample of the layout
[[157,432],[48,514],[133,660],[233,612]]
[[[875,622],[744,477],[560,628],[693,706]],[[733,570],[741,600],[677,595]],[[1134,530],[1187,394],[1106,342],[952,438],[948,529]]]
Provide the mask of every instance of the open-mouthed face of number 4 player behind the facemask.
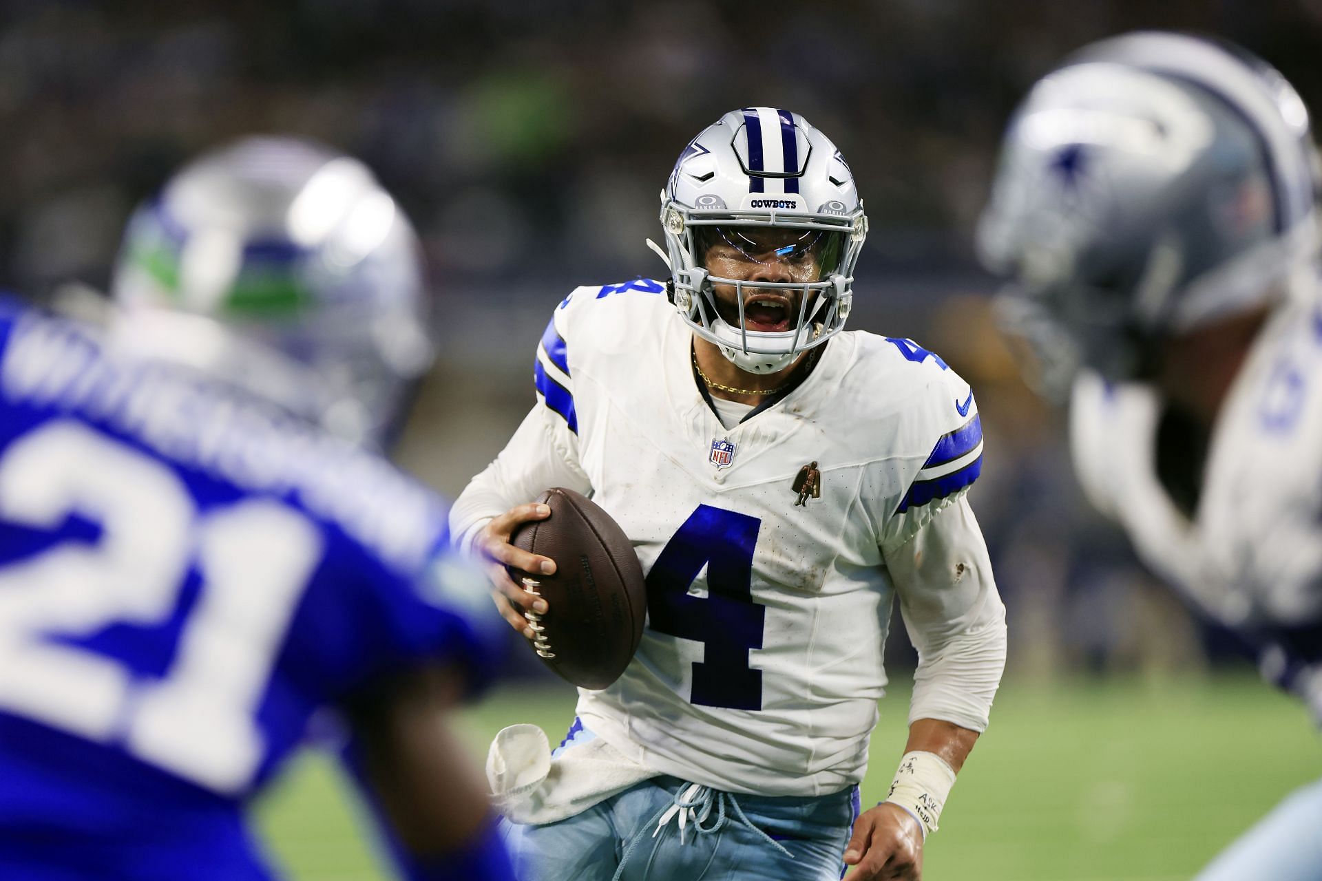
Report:
[[[717,226],[702,231],[703,265],[719,279],[806,284],[820,281],[838,262],[839,234],[821,230]],[[739,291],[714,284],[717,312],[731,328],[739,326]],[[744,326],[756,332],[792,330],[798,322],[804,289],[744,287]],[[816,297],[816,293],[808,296]],[[808,304],[812,313],[813,302]]]

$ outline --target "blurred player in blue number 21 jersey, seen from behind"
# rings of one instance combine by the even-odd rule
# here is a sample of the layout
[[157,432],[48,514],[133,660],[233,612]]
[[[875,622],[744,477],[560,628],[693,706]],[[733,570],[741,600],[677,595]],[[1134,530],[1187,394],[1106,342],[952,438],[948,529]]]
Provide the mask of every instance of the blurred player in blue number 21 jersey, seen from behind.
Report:
[[114,300],[0,305],[0,877],[270,878],[245,808],[323,709],[407,877],[509,877],[443,717],[504,625],[368,449],[431,353],[395,202],[242,141],[137,211]]

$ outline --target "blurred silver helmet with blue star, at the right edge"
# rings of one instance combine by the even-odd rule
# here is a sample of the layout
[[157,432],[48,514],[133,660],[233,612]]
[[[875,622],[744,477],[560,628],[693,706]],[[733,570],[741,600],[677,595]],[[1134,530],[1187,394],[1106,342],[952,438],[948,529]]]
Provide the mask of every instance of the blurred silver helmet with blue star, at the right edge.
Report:
[[1303,103],[1260,59],[1198,37],[1092,44],[1010,122],[978,227],[998,308],[1048,394],[1080,366],[1151,367],[1155,343],[1288,292],[1317,251]]

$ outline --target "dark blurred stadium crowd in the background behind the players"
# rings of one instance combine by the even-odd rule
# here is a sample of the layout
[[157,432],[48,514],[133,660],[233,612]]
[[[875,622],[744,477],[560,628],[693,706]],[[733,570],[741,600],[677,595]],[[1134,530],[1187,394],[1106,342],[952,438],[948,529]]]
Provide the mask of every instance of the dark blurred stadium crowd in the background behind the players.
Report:
[[356,155],[427,251],[442,366],[402,458],[449,494],[531,403],[559,299],[661,271],[642,240],[687,137],[731,107],[802,112],[869,210],[850,326],[917,338],[977,388],[989,453],[973,502],[1011,675],[1233,654],[1081,512],[1059,416],[993,330],[970,234],[1007,112],[1069,50],[1137,26],[1220,34],[1317,110],[1318,0],[7,0],[0,20],[0,284],[103,287],[136,201],[223,140],[292,133]]

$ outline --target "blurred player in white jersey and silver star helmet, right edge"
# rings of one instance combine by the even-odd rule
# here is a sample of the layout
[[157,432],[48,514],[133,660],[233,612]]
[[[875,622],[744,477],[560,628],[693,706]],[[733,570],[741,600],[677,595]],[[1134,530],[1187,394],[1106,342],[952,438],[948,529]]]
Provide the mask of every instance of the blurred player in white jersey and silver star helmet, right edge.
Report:
[[[980,247],[1011,280],[1002,306],[1043,384],[1072,380],[1085,491],[1322,720],[1315,168],[1277,71],[1233,46],[1128,34],[1030,91]],[[1314,783],[1199,877],[1315,881],[1318,829]]]

